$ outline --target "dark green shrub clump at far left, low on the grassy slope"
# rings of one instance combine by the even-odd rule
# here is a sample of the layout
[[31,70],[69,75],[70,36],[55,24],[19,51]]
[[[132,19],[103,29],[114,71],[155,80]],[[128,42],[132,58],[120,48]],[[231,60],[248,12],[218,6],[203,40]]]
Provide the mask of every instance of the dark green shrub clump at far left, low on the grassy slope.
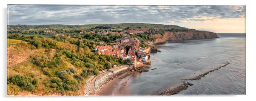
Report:
[[7,81],[11,84],[19,86],[23,90],[34,91],[34,86],[31,84],[31,79],[27,77],[15,75],[9,77]]

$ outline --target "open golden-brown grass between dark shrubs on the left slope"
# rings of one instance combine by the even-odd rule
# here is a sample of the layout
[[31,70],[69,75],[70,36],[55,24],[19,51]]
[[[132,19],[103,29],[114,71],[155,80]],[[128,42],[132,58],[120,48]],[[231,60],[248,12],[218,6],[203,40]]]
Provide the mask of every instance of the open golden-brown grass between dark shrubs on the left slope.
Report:
[[[8,83],[7,84],[7,95],[61,95],[61,93],[58,93],[55,91],[56,88],[49,87],[51,85],[51,79],[54,77],[54,74],[56,71],[60,70],[67,70],[70,67],[75,68],[69,61],[67,61],[65,58],[63,58],[63,63],[59,65],[57,68],[51,68],[48,69],[49,73],[52,76],[44,75],[42,72],[42,68],[34,65],[31,63],[30,59],[27,59],[29,56],[37,56],[40,54],[46,53],[45,48],[36,49],[33,45],[29,45],[26,43],[22,44],[15,44],[9,46],[9,54],[8,58],[13,58],[11,56],[15,56],[13,58],[14,62],[20,61],[20,58],[26,58],[23,59],[23,61],[20,61],[18,64],[10,63],[7,67],[7,78],[15,75],[20,75],[27,77],[31,80],[38,79],[39,84],[35,85],[35,92],[30,92],[28,90],[22,90],[20,87],[18,87],[15,84]],[[49,52],[49,51],[48,51]],[[54,50],[51,50],[49,54],[54,54]],[[20,57],[20,58],[17,58]],[[10,60],[9,60],[10,61]],[[77,69],[77,73],[81,73],[82,70]],[[69,76],[72,78],[74,74],[70,74]],[[83,81],[81,81],[80,84],[80,90],[78,91],[67,91],[63,93],[64,95],[83,95]]]

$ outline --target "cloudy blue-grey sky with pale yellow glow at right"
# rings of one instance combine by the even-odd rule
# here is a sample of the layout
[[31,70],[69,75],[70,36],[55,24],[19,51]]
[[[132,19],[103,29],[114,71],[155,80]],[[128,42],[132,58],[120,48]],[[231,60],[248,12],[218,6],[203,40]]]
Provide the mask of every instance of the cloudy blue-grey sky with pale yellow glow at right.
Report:
[[8,25],[156,23],[245,33],[245,6],[8,5]]

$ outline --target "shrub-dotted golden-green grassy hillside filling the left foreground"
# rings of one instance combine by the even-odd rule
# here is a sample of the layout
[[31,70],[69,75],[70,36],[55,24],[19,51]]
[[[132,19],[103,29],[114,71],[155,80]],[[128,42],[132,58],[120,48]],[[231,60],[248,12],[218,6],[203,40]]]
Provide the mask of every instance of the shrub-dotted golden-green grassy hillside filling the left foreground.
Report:
[[[68,38],[71,42],[75,41],[71,44],[67,39],[10,37],[28,43],[7,47],[7,95],[83,95],[84,82],[88,77],[97,75],[99,70],[105,70],[114,63],[124,63],[119,57],[92,54],[87,46],[82,48],[83,45],[77,45],[82,41],[80,39]],[[40,43],[40,47],[35,43]],[[94,43],[88,45],[95,46]],[[52,81],[54,78],[59,81]],[[38,84],[33,84],[34,79],[38,80]]]

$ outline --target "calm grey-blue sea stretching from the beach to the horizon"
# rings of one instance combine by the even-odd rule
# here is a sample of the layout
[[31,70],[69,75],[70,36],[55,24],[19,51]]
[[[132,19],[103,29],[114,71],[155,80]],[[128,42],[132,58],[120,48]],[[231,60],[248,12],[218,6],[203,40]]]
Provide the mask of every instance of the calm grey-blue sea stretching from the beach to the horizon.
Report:
[[[198,76],[230,62],[226,67],[209,73],[177,95],[244,95],[245,34],[218,34],[219,38],[168,42],[156,45],[162,52],[151,53],[149,72],[134,73],[125,87],[108,88],[114,95],[151,95],[182,83],[181,79]],[[114,90],[112,90],[114,89]],[[125,89],[117,90],[117,89]],[[104,89],[103,89],[104,90]],[[107,89],[106,89],[107,90]],[[118,92],[122,91],[122,92]],[[102,93],[103,94],[103,93]]]

